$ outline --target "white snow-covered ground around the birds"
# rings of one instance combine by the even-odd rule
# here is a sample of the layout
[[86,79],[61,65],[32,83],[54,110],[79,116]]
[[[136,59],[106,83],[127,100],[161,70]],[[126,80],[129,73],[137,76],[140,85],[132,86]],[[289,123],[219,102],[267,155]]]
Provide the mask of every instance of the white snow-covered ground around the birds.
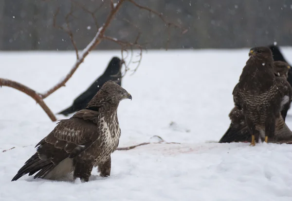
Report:
[[[292,48],[282,50],[292,57]],[[115,55],[119,51],[92,52],[66,87],[45,102],[54,113],[69,106]],[[122,81],[133,100],[122,101],[118,109],[119,146],[149,142],[153,135],[181,144],[115,151],[111,176],[91,176],[88,183],[27,175],[10,182],[55,122],[27,95],[2,87],[0,201],[291,201],[292,145],[214,143],[230,124],[232,90],[247,59],[248,49],[144,53],[136,74]],[[0,52],[0,77],[43,92],[74,60],[74,52]],[[98,175],[96,169],[92,173]]]

